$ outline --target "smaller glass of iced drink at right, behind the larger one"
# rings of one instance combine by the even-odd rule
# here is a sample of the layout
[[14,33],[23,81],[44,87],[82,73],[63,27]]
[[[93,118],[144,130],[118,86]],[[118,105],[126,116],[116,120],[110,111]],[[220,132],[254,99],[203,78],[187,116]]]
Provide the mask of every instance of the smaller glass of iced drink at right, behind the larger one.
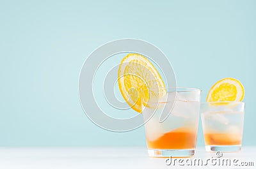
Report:
[[240,151],[243,137],[244,103],[202,103],[201,118],[206,151]]

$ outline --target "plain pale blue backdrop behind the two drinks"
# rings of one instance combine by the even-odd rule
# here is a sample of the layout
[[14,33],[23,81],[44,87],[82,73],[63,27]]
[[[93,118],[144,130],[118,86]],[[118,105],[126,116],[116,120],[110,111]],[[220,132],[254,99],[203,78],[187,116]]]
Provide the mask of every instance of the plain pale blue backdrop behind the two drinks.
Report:
[[255,9],[256,1],[0,1],[0,145],[146,145],[143,128],[105,131],[79,103],[84,60],[120,38],[159,47],[177,85],[202,89],[202,101],[217,80],[241,80],[243,144],[255,145]]

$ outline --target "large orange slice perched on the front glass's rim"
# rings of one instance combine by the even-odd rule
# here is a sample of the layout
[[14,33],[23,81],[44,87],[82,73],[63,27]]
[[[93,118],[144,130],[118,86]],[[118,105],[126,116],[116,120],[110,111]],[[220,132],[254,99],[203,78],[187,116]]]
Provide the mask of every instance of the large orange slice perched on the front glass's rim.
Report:
[[150,90],[147,96],[143,95],[147,100],[166,94],[161,75],[152,62],[140,54],[128,54],[122,59],[118,69],[118,86],[128,105],[139,113],[142,112],[141,91]]

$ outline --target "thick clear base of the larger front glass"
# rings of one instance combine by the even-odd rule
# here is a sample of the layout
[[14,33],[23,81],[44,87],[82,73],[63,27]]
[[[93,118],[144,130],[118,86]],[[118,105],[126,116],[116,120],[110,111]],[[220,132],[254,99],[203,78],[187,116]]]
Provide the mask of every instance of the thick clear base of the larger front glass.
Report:
[[154,158],[185,158],[195,155],[195,149],[148,149],[148,156]]

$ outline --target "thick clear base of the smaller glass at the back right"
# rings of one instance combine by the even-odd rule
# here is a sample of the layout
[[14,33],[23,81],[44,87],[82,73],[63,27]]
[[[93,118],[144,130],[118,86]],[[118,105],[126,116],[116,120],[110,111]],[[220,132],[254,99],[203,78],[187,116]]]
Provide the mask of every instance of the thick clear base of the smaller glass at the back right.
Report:
[[241,147],[241,145],[205,145],[205,150],[210,152],[234,152],[241,151]]

